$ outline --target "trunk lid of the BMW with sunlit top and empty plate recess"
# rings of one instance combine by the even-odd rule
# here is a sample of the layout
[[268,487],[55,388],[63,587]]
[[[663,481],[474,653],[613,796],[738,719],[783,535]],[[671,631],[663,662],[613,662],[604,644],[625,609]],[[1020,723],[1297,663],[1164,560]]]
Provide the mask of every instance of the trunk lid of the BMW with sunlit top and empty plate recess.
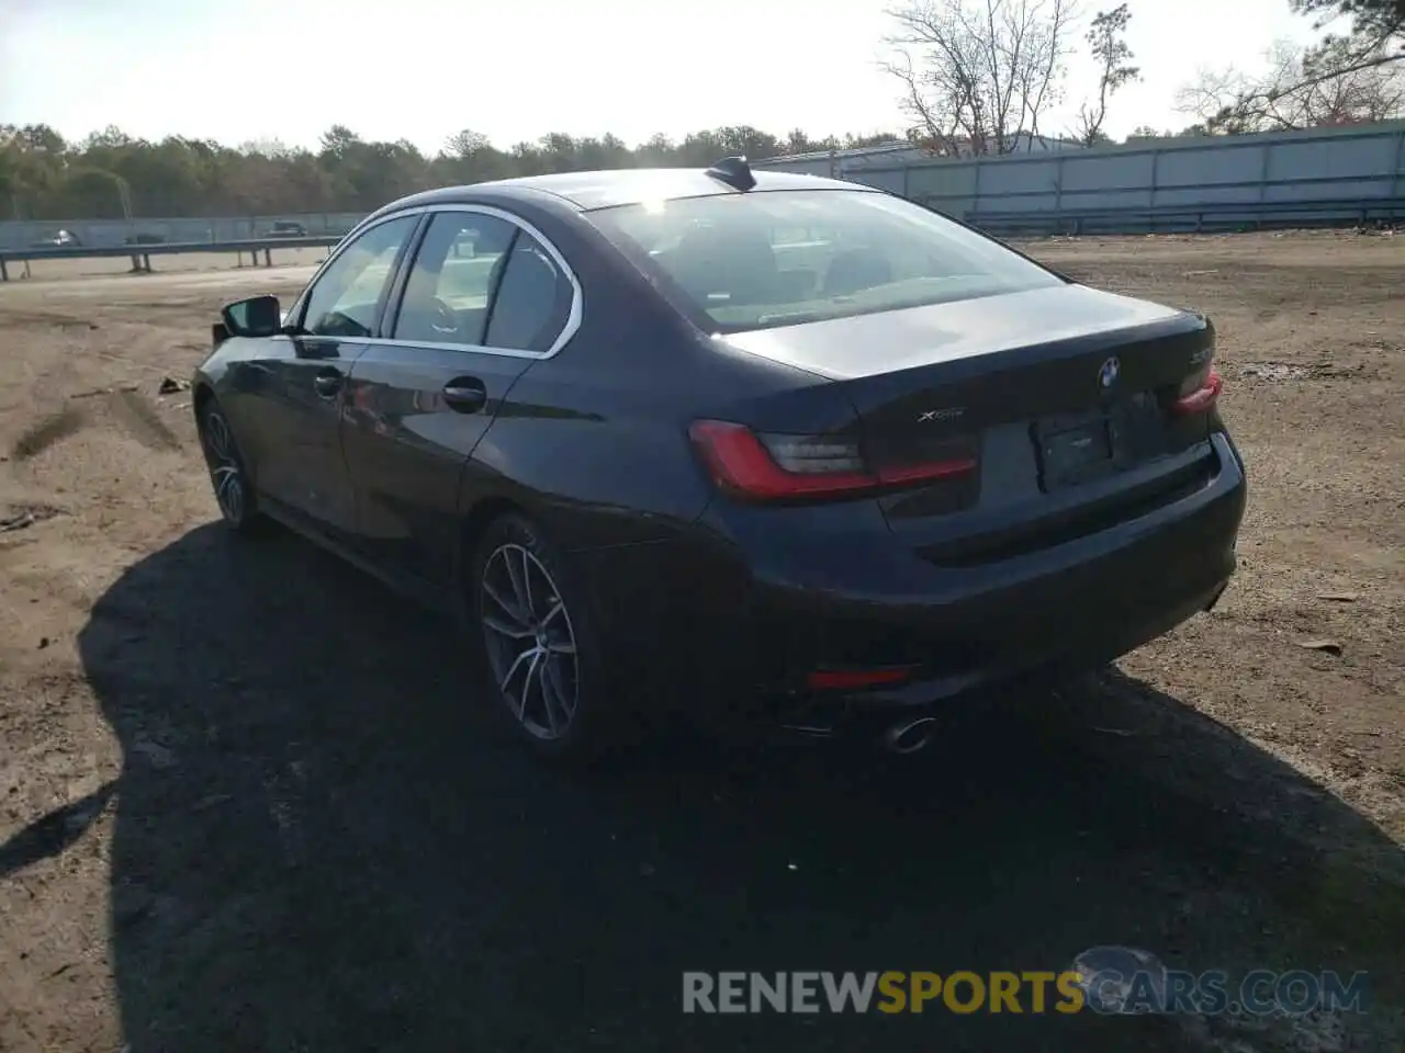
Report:
[[1177,455],[1208,451],[1211,414],[1170,403],[1213,355],[1213,326],[1082,285],[725,340],[842,385],[875,469],[975,459],[964,477],[880,498],[895,531],[936,531],[951,552],[996,525],[1037,529],[1118,494],[1144,501],[1161,475],[1169,486],[1183,472]]

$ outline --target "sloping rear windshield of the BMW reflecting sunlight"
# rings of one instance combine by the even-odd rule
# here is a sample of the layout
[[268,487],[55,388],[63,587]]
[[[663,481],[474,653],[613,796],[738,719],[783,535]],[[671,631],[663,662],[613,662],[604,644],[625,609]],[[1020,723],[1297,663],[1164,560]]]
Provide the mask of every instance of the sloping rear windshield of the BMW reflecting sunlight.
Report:
[[717,333],[1023,292],[1062,279],[887,194],[719,194],[589,213]]

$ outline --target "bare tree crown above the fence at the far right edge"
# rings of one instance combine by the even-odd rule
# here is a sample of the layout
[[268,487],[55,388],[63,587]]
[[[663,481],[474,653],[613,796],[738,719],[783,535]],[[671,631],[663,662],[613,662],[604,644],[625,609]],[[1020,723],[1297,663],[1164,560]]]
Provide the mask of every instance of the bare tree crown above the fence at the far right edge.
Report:
[[1280,41],[1260,73],[1201,70],[1176,93],[1176,110],[1227,135],[1387,121],[1405,115],[1405,66],[1364,62],[1349,38]]

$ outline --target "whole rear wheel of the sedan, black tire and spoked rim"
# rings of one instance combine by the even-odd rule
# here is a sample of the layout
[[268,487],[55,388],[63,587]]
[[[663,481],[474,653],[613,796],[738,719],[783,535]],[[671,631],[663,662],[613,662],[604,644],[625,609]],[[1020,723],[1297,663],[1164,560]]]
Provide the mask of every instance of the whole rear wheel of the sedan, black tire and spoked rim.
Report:
[[568,762],[599,758],[618,744],[589,597],[541,531],[516,514],[495,519],[465,584],[492,702],[514,736]]

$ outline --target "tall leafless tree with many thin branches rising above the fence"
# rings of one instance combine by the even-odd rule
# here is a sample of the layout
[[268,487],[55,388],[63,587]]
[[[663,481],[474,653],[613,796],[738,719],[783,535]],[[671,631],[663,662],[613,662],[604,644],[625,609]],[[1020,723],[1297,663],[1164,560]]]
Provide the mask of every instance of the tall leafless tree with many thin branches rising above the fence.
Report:
[[933,153],[1012,153],[1059,98],[1075,0],[909,0],[884,67]]

